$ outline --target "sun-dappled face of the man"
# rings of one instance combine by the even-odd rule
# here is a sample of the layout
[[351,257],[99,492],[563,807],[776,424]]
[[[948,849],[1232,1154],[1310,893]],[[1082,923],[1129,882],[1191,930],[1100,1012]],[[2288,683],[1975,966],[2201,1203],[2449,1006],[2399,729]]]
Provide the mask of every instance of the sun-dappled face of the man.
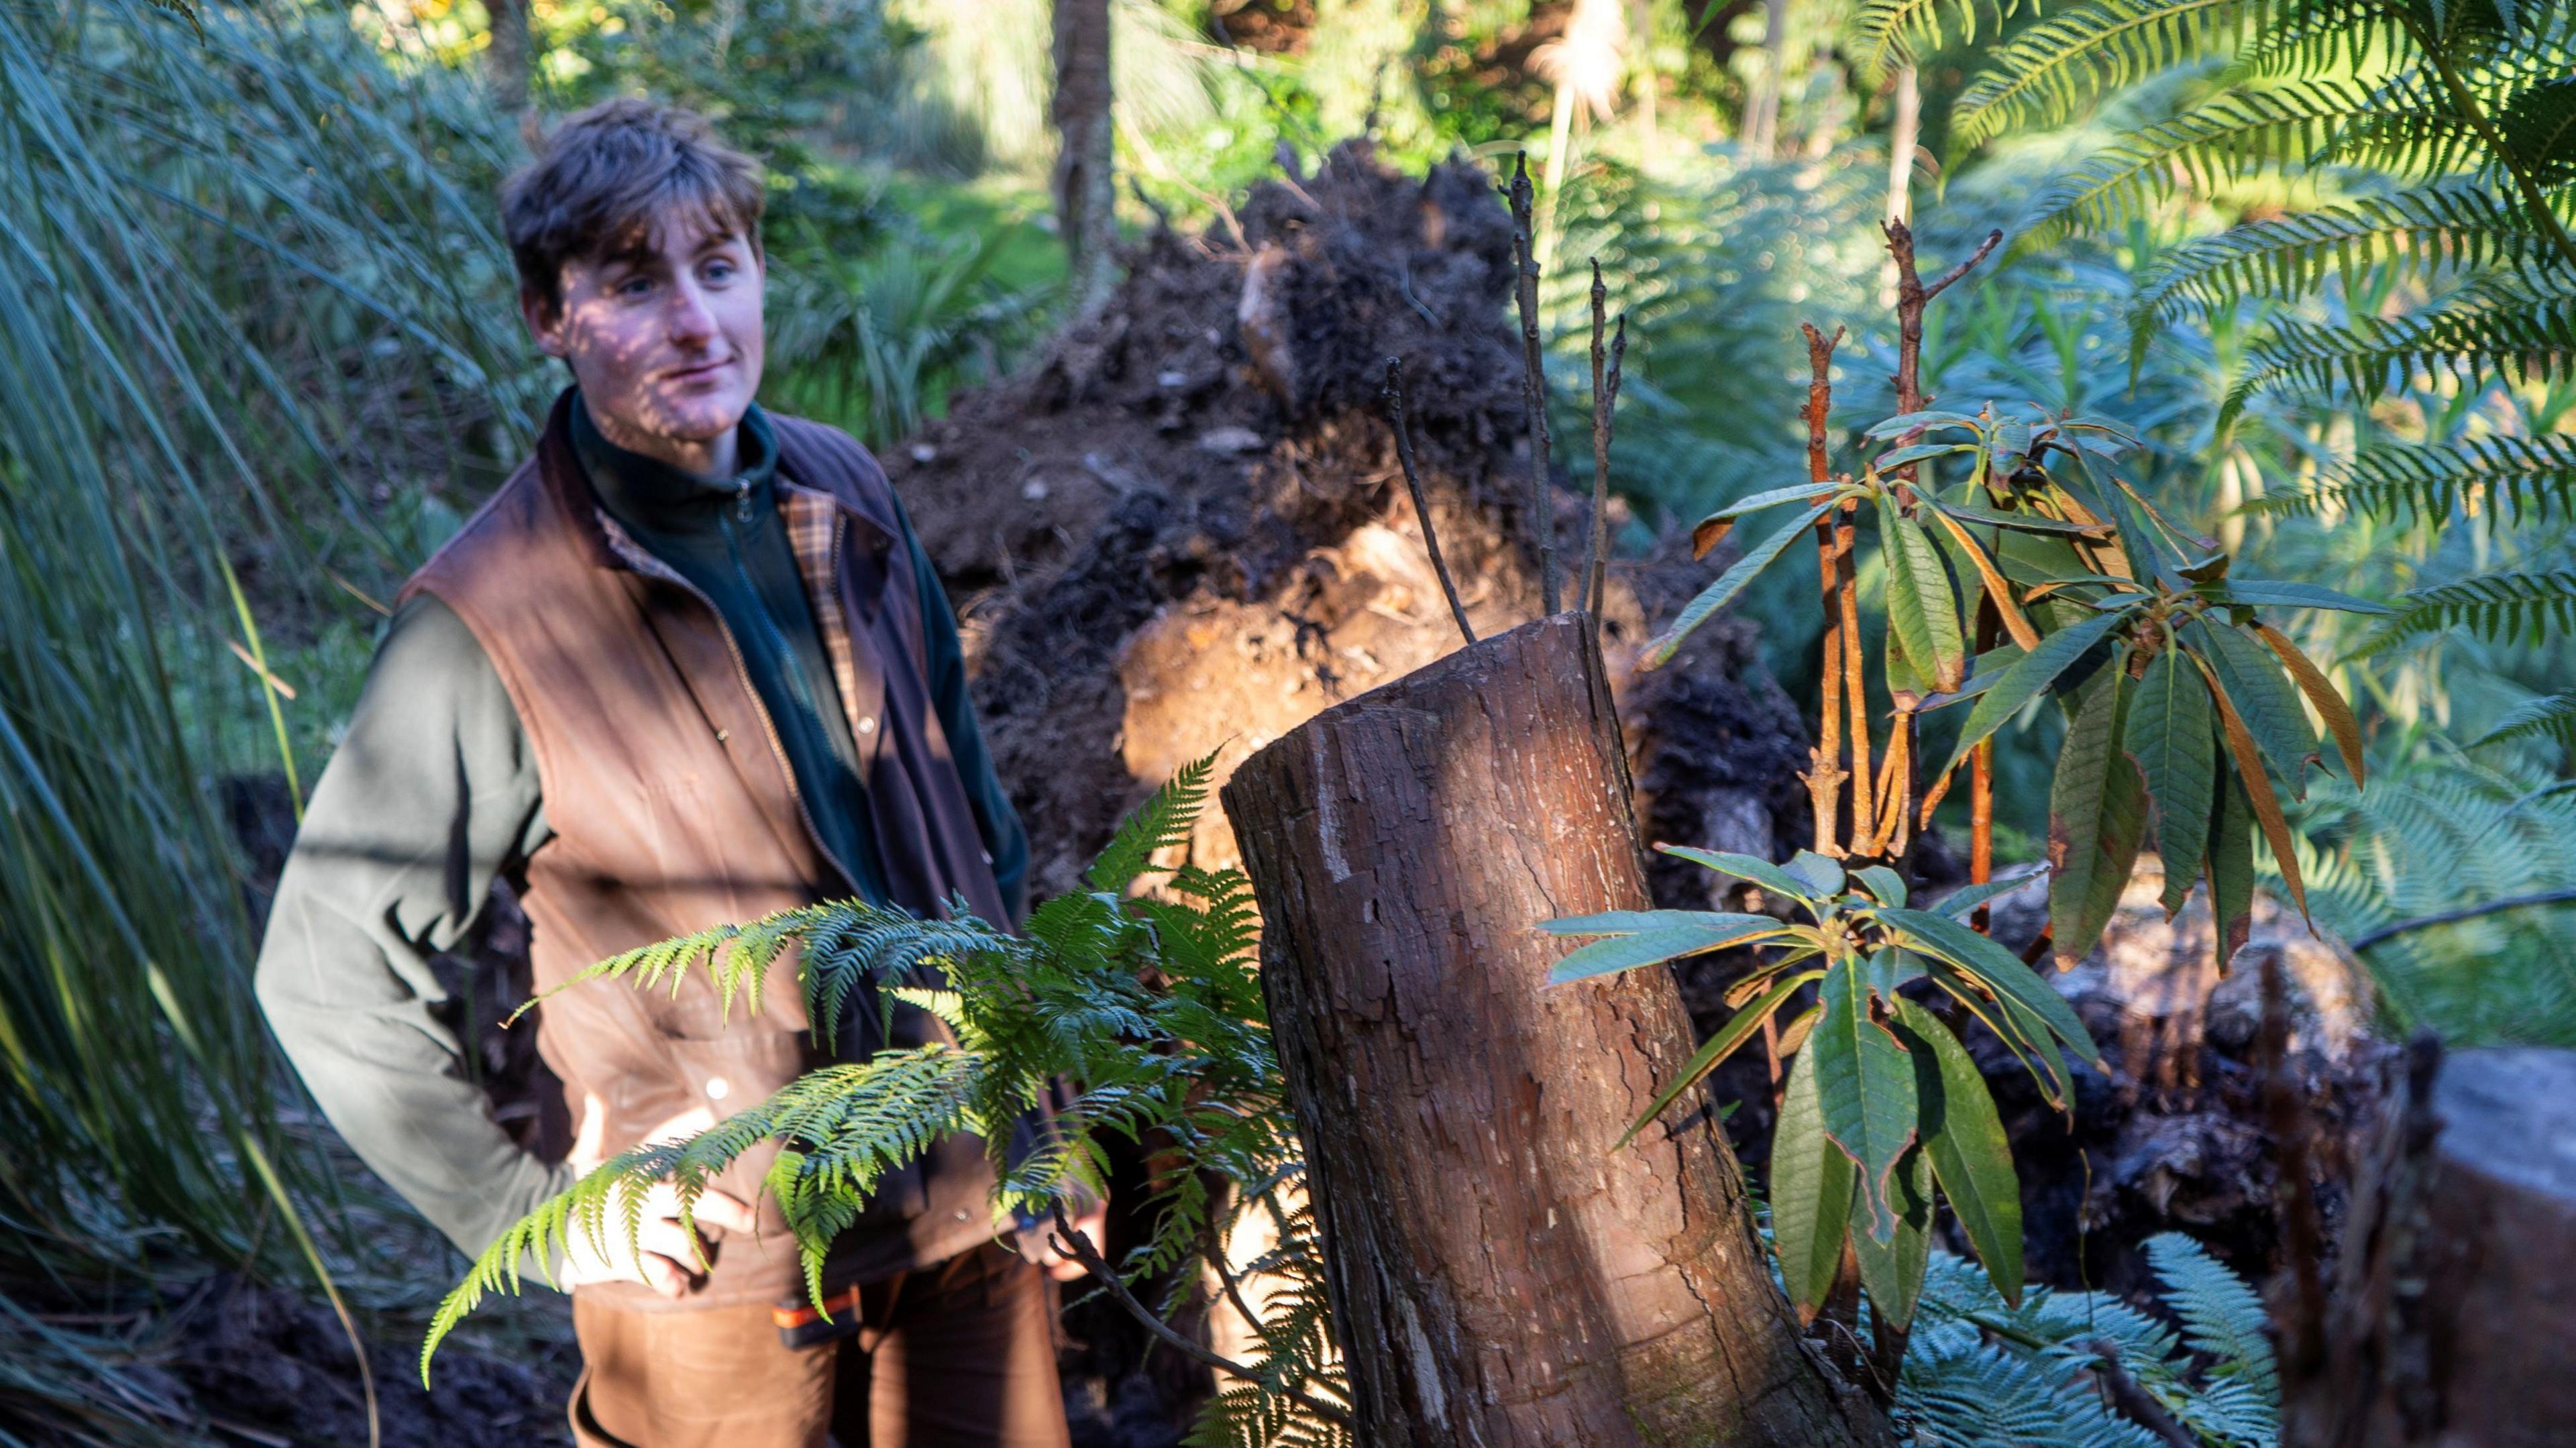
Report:
[[732,466],[760,392],[760,252],[696,206],[631,247],[567,260],[562,307],[523,299],[538,348],[572,363],[600,433],[690,472]]

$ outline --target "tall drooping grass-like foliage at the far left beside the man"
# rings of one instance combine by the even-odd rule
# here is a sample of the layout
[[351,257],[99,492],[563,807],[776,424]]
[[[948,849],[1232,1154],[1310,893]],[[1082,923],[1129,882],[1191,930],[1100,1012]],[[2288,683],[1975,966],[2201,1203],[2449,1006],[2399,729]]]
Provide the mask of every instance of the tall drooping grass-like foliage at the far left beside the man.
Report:
[[242,654],[515,448],[497,134],[307,10],[8,0],[0,67],[0,1283],[307,1270],[368,1244],[247,982],[224,776],[314,734]]

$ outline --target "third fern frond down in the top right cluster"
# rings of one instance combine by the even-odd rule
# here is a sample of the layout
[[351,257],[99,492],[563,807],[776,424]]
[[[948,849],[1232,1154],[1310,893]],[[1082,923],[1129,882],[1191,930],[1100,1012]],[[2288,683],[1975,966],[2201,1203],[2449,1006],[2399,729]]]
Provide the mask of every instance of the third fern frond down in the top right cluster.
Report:
[[2406,191],[2184,242],[2138,278],[2130,325],[2148,327],[2187,307],[2233,307],[2257,291],[2298,296],[2321,286],[2329,268],[2349,289],[2360,271],[2383,263],[2416,276],[2504,265],[2537,278],[2535,268],[2555,265],[2558,250],[2494,191]]

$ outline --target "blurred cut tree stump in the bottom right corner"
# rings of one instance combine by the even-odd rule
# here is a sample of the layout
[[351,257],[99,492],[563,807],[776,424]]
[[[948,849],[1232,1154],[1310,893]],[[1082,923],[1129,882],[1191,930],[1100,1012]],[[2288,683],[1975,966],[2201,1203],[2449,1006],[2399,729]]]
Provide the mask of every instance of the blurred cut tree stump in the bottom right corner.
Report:
[[2391,1095],[2282,1443],[2576,1443],[2576,1051],[2419,1043]]

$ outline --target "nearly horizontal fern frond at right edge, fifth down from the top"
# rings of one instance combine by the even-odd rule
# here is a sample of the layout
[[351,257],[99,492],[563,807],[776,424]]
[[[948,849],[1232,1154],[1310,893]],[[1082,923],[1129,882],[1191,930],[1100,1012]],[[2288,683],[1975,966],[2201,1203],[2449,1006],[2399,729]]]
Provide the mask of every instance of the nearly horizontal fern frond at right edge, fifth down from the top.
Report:
[[2303,492],[2259,497],[2257,513],[2316,515],[2326,508],[2372,518],[2442,523],[2496,508],[2517,523],[2576,513],[2576,435],[2478,438],[2439,446],[2380,446],[2354,453]]

